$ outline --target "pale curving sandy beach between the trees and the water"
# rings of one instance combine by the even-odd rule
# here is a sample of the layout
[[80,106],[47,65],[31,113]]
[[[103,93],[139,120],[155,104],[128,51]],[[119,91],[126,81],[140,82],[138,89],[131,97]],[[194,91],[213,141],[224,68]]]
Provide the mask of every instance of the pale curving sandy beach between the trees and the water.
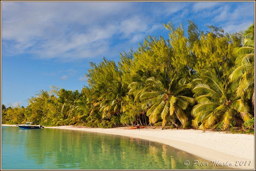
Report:
[[[15,126],[15,125],[2,125]],[[122,135],[159,143],[167,144],[174,148],[194,154],[206,160],[219,160],[220,163],[231,163],[229,167],[237,169],[254,169],[254,136],[247,134],[229,134],[225,132],[213,132],[202,130],[182,129],[129,129],[118,128],[86,128],[83,126],[55,126],[45,127],[55,129],[68,129]],[[242,165],[241,161],[247,161]],[[249,166],[249,162],[250,166]],[[192,161],[190,161],[192,162]],[[242,165],[242,166],[239,166]],[[238,165],[238,166],[236,166]]]

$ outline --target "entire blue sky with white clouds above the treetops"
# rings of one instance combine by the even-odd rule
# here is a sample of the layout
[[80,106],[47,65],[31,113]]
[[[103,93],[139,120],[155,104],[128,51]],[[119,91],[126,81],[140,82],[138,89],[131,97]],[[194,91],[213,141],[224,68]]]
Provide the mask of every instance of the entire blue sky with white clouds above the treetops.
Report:
[[90,63],[136,50],[147,36],[168,39],[164,23],[187,20],[225,32],[254,22],[255,2],[4,2],[1,1],[1,103],[27,107],[50,86],[87,86]]

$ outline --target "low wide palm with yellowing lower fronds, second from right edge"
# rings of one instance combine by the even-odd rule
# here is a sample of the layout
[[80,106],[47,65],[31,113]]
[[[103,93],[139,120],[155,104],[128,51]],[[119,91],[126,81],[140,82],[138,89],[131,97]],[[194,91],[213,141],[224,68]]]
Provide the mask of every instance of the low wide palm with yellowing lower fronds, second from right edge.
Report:
[[237,81],[229,80],[230,67],[206,68],[202,75],[193,80],[192,89],[197,104],[191,115],[194,117],[193,126],[208,129],[221,126],[226,130],[235,118],[247,121],[252,118],[250,107],[239,96],[236,96]]

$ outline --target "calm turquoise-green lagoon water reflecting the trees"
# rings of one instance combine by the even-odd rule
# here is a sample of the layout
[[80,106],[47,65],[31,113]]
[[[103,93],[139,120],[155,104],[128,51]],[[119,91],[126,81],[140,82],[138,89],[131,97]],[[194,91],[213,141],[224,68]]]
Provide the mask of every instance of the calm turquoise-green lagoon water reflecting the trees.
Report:
[[[184,161],[189,160],[188,166]],[[193,161],[209,163],[193,166]],[[187,163],[186,163],[187,164]],[[2,169],[224,169],[157,142],[61,129],[2,126]]]

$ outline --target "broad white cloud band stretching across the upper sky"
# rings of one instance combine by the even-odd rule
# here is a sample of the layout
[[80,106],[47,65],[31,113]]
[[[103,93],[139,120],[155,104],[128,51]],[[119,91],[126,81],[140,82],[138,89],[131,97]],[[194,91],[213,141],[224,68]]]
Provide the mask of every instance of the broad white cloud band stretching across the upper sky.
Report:
[[235,20],[240,11],[248,15],[253,11],[244,6],[235,11],[214,9],[221,4],[228,3],[3,2],[2,46],[9,56],[28,53],[61,61],[92,59],[113,54],[111,48],[121,41],[118,46],[130,48],[164,29],[160,22],[166,18],[180,23],[192,16],[192,10],[197,14],[191,18],[215,22]]

